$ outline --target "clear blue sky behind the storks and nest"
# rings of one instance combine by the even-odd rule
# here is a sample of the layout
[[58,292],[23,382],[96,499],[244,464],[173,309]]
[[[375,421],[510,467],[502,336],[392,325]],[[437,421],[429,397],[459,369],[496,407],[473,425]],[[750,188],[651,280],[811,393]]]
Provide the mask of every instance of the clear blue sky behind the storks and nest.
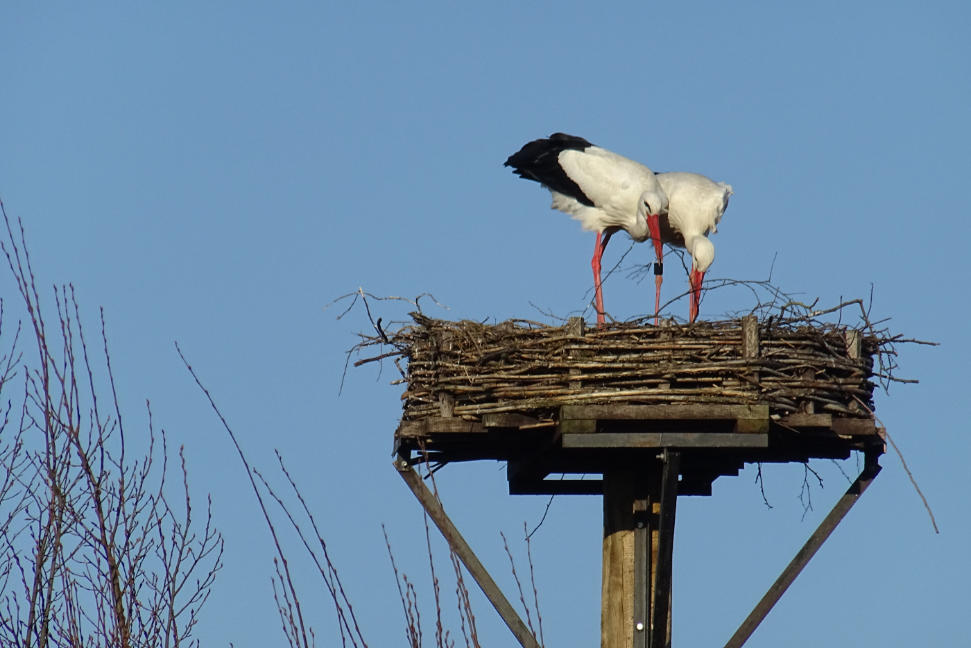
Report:
[[[456,319],[540,317],[529,302],[583,308],[592,235],[502,167],[553,131],[730,183],[711,277],[763,278],[778,253],[783,288],[833,302],[873,284],[877,316],[942,343],[904,349],[902,374],[921,384],[877,397],[940,535],[887,456],[750,645],[971,643],[969,13],[887,2],[0,2],[0,196],[23,219],[41,284],[73,282],[89,324],[104,306],[129,421],[144,423],[151,398],[156,425],[185,444],[196,496],[213,495],[227,551],[198,627],[204,645],[283,637],[268,534],[173,341],[253,462],[270,468],[275,448],[290,461],[369,643],[402,645],[381,524],[399,566],[421,582],[427,567],[419,507],[390,466],[401,388],[369,366],[338,397],[344,351],[366,321],[321,309],[358,286],[433,292]],[[627,245],[612,244],[605,264]],[[650,256],[639,246],[628,260]],[[665,290],[680,282],[669,274]],[[615,275],[607,306],[644,313],[652,288]],[[16,311],[8,277],[0,289]],[[713,295],[702,317],[750,305]],[[801,523],[799,466],[767,470],[772,510],[751,468],[721,478],[714,497],[681,500],[679,645],[721,645],[815,529],[846,484],[819,463],[826,488]],[[501,468],[450,466],[439,486],[511,594],[499,530],[519,537],[547,499],[506,495]],[[534,536],[551,647],[599,641],[600,516],[598,498],[557,497]],[[319,645],[334,645],[322,588],[309,571],[303,585]],[[476,602],[484,645],[512,645]]]

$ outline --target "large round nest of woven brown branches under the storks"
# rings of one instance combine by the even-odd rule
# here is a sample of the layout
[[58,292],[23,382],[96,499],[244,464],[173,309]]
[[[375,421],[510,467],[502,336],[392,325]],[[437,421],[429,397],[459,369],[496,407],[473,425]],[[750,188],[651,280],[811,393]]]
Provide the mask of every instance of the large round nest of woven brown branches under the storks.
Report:
[[[825,315],[859,305],[859,324]],[[788,302],[775,315],[678,324],[634,321],[586,327],[510,320],[449,322],[419,312],[394,332],[375,325],[353,351],[380,346],[394,358],[403,419],[433,416],[479,421],[520,412],[553,418],[578,404],[767,404],[773,415],[831,413],[869,418],[876,383],[895,378],[903,340],[870,324],[860,300],[827,310]],[[762,317],[759,317],[761,315]],[[387,351],[387,347],[391,347]],[[400,358],[407,359],[403,367]],[[875,382],[876,381],[876,382]]]

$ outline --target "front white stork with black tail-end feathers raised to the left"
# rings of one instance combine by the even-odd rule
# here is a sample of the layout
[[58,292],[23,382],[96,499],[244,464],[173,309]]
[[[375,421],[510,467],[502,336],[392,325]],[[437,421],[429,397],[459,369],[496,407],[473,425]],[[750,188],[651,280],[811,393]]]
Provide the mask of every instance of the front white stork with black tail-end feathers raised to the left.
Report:
[[[505,166],[520,178],[534,180],[552,193],[552,209],[558,209],[597,233],[593,250],[593,286],[597,324],[604,323],[600,258],[620,229],[638,242],[653,238],[657,257],[661,249],[659,216],[668,209],[668,198],[651,169],[593,146],[582,137],[553,133],[550,139],[534,140],[510,155]],[[692,239],[693,240],[693,239]],[[659,299],[660,280],[657,281]]]

